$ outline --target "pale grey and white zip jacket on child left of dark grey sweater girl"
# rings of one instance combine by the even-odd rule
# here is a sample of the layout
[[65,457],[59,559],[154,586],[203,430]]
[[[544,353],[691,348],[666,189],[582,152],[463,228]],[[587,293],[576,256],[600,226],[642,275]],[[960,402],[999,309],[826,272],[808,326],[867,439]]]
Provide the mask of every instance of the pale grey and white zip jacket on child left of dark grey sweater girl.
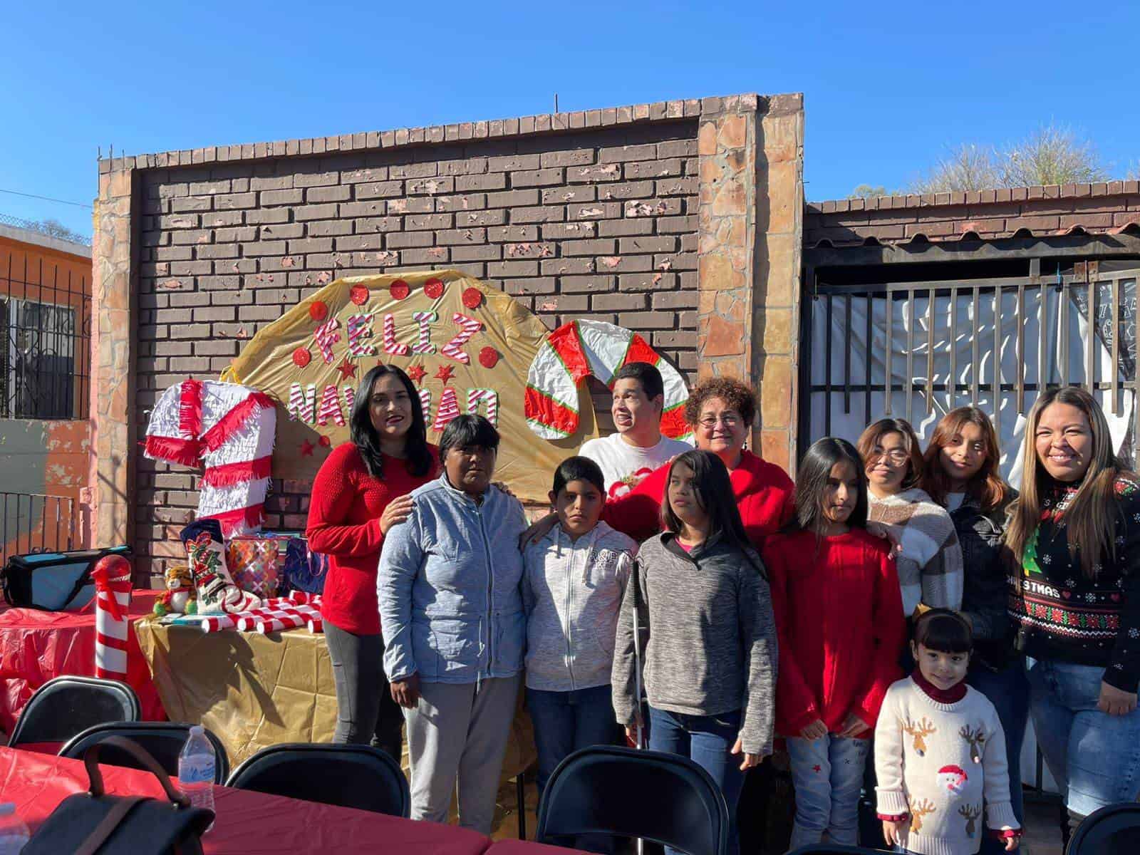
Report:
[[577,542],[552,528],[523,553],[527,687],[609,685],[613,641],[637,544],[598,522]]

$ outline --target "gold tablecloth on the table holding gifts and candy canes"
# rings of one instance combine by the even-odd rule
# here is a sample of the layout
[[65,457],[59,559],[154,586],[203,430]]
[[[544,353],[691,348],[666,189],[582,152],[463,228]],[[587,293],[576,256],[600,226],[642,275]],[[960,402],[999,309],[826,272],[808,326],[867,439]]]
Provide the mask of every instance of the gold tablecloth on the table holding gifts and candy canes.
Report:
[[[149,619],[136,621],[135,634],[170,720],[213,731],[231,769],[269,746],[332,741],[336,690],[323,635],[203,633]],[[514,777],[536,756],[520,692],[503,777]]]

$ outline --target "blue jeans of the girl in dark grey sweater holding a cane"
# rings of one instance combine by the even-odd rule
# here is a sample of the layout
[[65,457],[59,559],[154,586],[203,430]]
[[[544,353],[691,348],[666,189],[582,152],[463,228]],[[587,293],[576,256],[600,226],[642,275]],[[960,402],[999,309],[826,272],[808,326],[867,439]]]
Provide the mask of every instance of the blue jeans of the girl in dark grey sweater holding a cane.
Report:
[[[686,716],[662,709],[649,709],[649,747],[687,757],[708,772],[728,804],[728,852],[740,850],[736,839],[736,803],[744,784],[741,755],[730,754],[740,735],[740,710],[718,716]],[[681,855],[665,847],[667,855]]]

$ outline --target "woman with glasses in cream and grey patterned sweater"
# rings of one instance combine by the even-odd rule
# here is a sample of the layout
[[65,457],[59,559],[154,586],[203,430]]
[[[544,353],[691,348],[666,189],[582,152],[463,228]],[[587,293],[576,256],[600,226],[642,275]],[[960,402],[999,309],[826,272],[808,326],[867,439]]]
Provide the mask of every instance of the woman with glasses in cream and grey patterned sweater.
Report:
[[858,438],[869,487],[869,521],[898,544],[903,614],[962,606],[962,549],[946,508],[917,484],[922,453],[902,418],[880,418]]

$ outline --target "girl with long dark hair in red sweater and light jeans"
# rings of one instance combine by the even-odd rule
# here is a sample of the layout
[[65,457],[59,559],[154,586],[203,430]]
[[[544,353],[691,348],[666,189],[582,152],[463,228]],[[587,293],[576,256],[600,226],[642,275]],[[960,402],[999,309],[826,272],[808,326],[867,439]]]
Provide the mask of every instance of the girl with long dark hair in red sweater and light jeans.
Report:
[[780,643],[776,733],[796,787],[791,848],[855,846],[858,796],[879,706],[901,676],[905,621],[890,545],[866,531],[858,451],[831,437],[797,470],[796,518],[764,563]]

